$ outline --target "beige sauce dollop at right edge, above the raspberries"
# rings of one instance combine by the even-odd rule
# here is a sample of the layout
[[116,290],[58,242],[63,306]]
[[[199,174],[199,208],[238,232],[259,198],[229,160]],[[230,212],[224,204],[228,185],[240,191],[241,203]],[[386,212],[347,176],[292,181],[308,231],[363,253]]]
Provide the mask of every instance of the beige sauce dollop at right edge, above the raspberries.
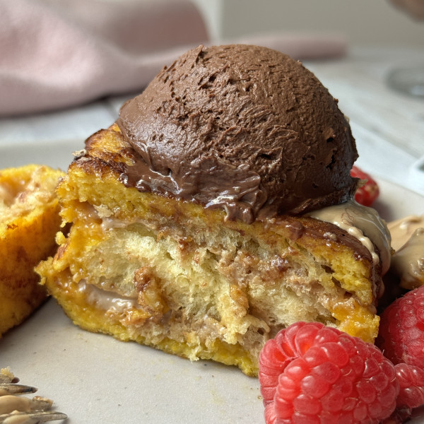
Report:
[[391,232],[391,271],[401,278],[404,288],[413,289],[424,283],[424,215],[407,216],[387,225]]

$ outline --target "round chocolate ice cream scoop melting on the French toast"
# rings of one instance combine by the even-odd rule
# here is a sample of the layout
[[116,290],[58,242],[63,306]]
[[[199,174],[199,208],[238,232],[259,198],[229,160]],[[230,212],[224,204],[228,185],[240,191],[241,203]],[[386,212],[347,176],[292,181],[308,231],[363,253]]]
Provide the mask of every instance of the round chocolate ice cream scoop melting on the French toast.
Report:
[[251,223],[353,196],[358,157],[337,101],[299,61],[250,45],[199,46],[117,121],[134,148],[122,179]]

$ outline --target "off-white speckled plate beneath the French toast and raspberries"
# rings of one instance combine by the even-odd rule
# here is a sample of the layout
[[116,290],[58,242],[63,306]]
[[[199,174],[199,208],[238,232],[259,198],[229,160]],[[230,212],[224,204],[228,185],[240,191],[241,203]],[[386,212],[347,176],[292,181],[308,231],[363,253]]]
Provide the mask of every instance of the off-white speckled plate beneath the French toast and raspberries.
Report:
[[[0,167],[37,162],[65,169],[70,152],[82,147],[69,141],[0,148]],[[385,219],[424,213],[423,197],[378,182],[376,208]],[[191,363],[83,331],[52,299],[0,339],[0,367],[6,366],[23,384],[38,387],[37,394],[54,399],[69,415],[67,424],[264,423],[257,379],[235,367]]]

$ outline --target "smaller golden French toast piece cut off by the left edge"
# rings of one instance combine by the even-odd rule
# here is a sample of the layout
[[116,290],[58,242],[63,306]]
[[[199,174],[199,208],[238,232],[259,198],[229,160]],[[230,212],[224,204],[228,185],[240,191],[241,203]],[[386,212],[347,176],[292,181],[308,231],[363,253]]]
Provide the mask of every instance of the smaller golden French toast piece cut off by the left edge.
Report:
[[56,247],[61,175],[43,165],[0,171],[0,336],[47,296],[34,267]]

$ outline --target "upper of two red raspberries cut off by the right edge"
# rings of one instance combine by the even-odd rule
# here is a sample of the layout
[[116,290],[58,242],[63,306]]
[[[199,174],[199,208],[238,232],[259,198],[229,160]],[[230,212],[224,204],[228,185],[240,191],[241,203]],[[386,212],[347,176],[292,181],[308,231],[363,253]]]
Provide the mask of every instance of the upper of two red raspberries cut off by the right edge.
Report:
[[424,286],[384,310],[375,344],[394,364],[424,367]]

